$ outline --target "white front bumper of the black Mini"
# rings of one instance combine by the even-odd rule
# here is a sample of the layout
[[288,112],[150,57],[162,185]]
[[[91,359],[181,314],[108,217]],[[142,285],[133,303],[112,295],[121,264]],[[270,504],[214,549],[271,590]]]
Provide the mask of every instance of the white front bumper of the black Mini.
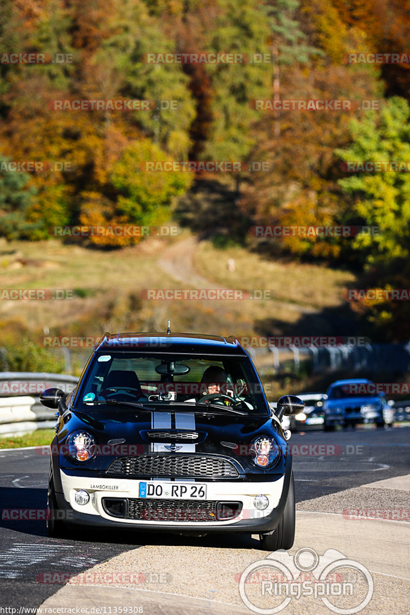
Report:
[[[127,501],[137,500],[139,493],[139,479],[130,478],[89,478],[73,476],[60,471],[63,493],[56,493],[57,506],[66,514],[63,517],[69,523],[81,525],[133,528],[139,530],[162,530],[162,531],[236,531],[247,533],[261,533],[275,530],[285,508],[290,485],[291,462],[286,464],[285,475],[281,475],[272,481],[243,482],[243,481],[200,481],[207,485],[207,501],[212,502],[241,502],[242,509],[235,518],[224,520],[203,521],[187,520],[186,518],[174,518],[173,520],[135,520],[130,518],[118,518],[109,515],[103,506],[103,499],[119,498]],[[142,480],[142,479],[141,479]],[[182,481],[186,482],[186,481]],[[90,500],[84,506],[80,506],[74,500],[77,490],[82,489],[90,494]],[[254,507],[254,498],[260,494],[269,499],[269,506],[265,510]],[[148,499],[144,499],[147,502]],[[156,499],[161,507],[161,499]],[[186,502],[186,501],[184,501]],[[153,500],[149,499],[152,505]]]

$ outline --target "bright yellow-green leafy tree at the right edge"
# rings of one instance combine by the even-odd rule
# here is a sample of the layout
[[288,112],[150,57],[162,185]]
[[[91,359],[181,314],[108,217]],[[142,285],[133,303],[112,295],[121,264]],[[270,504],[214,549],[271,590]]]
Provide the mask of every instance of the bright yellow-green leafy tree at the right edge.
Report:
[[[379,111],[349,125],[352,144],[336,149],[343,161],[410,161],[410,106],[393,97]],[[347,168],[347,167],[345,167]],[[349,173],[339,180],[348,202],[345,221],[376,226],[379,234],[359,234],[352,242],[357,258],[368,264],[410,255],[410,173]]]

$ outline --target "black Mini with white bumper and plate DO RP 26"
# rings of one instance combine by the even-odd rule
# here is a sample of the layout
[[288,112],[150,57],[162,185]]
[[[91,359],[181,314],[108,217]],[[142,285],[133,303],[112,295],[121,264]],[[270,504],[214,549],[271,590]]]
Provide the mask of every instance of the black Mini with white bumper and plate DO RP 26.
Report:
[[58,410],[47,528],[124,527],[203,535],[259,534],[266,550],[294,540],[292,456],[248,353],[234,337],[106,333]]

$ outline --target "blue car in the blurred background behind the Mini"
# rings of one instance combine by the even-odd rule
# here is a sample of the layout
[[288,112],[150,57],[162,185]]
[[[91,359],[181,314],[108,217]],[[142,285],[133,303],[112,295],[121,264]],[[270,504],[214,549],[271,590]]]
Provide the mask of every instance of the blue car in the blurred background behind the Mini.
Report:
[[[361,385],[361,386],[360,386]],[[326,394],[325,401],[325,431],[334,429],[336,425],[354,427],[358,423],[374,423],[377,427],[392,425],[394,413],[388,405],[385,396],[373,392],[374,383],[366,378],[350,378],[336,380]]]

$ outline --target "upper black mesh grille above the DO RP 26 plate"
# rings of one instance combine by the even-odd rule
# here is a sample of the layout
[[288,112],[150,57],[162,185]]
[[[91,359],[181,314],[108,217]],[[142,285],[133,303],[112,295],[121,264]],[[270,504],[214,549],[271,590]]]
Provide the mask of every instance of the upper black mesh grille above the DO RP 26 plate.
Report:
[[239,472],[228,459],[207,455],[152,454],[119,457],[106,474],[141,477],[237,478]]

